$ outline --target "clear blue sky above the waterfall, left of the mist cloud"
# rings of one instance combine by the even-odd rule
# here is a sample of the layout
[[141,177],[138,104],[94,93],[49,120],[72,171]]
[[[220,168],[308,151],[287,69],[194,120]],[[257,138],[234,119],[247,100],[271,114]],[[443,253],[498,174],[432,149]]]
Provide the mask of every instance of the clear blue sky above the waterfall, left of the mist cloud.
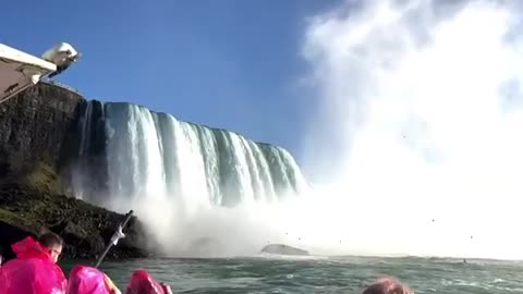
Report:
[[9,2],[0,42],[38,56],[71,42],[83,58],[57,79],[86,98],[139,103],[299,156],[314,109],[299,83],[306,21],[338,1]]

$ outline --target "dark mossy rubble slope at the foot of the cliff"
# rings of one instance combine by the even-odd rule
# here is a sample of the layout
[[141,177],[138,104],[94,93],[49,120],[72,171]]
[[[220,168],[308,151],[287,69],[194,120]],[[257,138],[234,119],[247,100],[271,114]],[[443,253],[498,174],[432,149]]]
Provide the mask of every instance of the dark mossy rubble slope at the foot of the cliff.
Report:
[[[0,246],[8,255],[14,242],[51,231],[64,240],[66,258],[94,259],[124,218],[63,195],[42,194],[15,185],[0,189]],[[124,233],[125,238],[112,247],[106,258],[146,257],[145,232],[135,217]]]

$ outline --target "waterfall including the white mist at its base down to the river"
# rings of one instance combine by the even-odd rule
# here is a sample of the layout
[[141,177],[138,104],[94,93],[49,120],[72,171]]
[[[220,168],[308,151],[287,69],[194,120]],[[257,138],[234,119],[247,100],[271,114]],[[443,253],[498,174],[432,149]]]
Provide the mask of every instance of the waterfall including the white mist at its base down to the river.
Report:
[[307,188],[280,147],[136,105],[85,102],[77,134],[74,195],[133,209],[172,256],[253,254],[273,234],[277,206]]

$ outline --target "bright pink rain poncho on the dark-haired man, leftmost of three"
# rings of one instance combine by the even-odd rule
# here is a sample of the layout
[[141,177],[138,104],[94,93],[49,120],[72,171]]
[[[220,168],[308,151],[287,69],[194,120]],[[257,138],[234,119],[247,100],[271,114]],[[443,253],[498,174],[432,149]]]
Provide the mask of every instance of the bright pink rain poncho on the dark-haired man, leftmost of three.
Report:
[[38,242],[28,236],[11,247],[16,259],[0,267],[0,293],[65,294],[63,271]]

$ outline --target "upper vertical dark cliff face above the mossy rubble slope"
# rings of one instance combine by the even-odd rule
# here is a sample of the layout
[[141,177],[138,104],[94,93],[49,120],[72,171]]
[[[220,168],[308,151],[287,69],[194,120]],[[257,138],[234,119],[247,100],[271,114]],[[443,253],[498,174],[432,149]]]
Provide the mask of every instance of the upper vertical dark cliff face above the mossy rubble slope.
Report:
[[0,183],[16,182],[35,162],[58,174],[77,149],[74,136],[83,102],[75,91],[39,83],[0,105]]

